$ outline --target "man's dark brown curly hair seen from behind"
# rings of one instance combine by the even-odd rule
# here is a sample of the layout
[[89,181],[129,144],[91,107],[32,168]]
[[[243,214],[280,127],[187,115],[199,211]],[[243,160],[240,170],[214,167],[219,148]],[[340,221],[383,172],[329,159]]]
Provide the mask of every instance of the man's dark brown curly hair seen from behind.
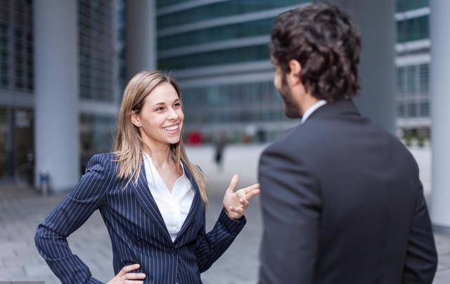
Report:
[[330,4],[311,4],[278,15],[271,31],[271,57],[283,76],[290,60],[311,95],[333,102],[359,92],[361,34],[352,19]]

